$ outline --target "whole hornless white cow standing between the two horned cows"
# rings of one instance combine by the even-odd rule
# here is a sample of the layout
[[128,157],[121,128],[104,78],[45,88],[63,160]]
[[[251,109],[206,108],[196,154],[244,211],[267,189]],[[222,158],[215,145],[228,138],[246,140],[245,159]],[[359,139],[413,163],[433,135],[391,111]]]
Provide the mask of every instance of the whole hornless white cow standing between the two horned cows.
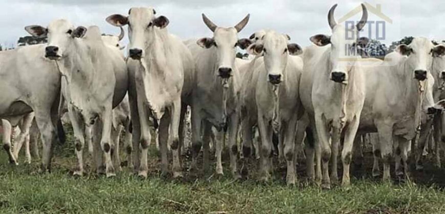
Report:
[[[242,122],[243,141],[252,141],[252,126],[258,123],[261,137],[261,179],[269,180],[272,170],[272,133],[276,132],[284,145],[287,162],[287,184],[295,184],[294,164],[295,130],[299,113],[298,86],[303,61],[299,57],[302,49],[297,44],[288,44],[285,35],[268,31],[261,43],[249,46],[252,55],[263,56],[250,66],[251,79],[243,90]],[[244,88],[244,87],[243,87]],[[257,115],[253,115],[253,114]],[[249,145],[249,144],[248,144]],[[243,147],[246,149],[249,147]],[[243,150],[243,153],[250,151]]]

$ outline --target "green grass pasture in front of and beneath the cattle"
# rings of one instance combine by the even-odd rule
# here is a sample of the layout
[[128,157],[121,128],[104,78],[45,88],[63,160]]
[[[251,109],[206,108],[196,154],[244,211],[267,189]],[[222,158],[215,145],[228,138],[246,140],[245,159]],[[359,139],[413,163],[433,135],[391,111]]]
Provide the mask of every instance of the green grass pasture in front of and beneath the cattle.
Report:
[[71,175],[76,157],[68,135],[67,144],[55,146],[52,173],[37,173],[35,160],[10,166],[0,151],[0,213],[445,213],[445,173],[431,162],[423,172],[412,173],[410,181],[381,183],[370,177],[372,156],[366,154],[366,164],[352,168],[350,189],[321,190],[305,181],[303,162],[296,186],[286,186],[285,164],[270,183],[235,181],[229,171],[224,177],[186,173],[185,179],[172,180],[160,175],[153,147],[146,180],[126,167],[115,178],[93,173],[77,178]]

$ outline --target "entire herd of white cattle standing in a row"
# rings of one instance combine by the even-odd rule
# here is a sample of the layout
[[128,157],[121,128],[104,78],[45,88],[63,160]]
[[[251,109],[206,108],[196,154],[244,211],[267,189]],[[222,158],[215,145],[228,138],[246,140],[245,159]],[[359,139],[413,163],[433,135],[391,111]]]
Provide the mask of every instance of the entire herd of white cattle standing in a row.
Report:
[[[60,118],[66,112],[74,130],[75,175],[84,173],[87,146],[96,172],[115,176],[120,171],[119,136],[125,129],[124,150],[136,174],[147,177],[147,151],[155,130],[161,171],[183,177],[181,153],[190,109],[190,170],[199,170],[201,151],[202,168],[209,168],[210,142],[216,135],[216,174],[223,173],[221,152],[227,145],[234,178],[240,177],[242,156],[257,159],[259,179],[268,181],[277,141],[288,184],[296,183],[296,155],[304,144],[309,179],[323,188],[340,181],[340,157],[341,185],[348,186],[353,145],[375,132],[372,175],[381,176],[382,162],[384,181],[391,179],[391,163],[396,175],[406,176],[410,152],[420,169],[428,136],[437,145],[445,140],[445,46],[414,38],[385,60],[365,66],[360,55],[347,55],[347,48],[366,46],[368,39],[358,32],[367,22],[367,9],[362,5],[361,20],[345,29],[334,18],[336,7],[328,12],[330,35],[310,37],[314,45],[305,48],[273,30],[239,39],[249,15],[225,28],[203,14],[213,37],[187,41],[169,34],[169,19],[153,8],[108,16],[106,21],[120,28],[119,36],[63,19],[47,27],[26,26],[32,36],[48,37],[48,43],[0,52],[0,118],[9,161],[17,164],[24,142],[29,156],[35,126],[43,144],[41,170],[50,171],[52,146],[64,141]],[[125,25],[128,57],[119,44]],[[351,38],[347,31],[353,32]],[[238,47],[250,59],[236,58]],[[416,142],[413,151],[411,142]]]

